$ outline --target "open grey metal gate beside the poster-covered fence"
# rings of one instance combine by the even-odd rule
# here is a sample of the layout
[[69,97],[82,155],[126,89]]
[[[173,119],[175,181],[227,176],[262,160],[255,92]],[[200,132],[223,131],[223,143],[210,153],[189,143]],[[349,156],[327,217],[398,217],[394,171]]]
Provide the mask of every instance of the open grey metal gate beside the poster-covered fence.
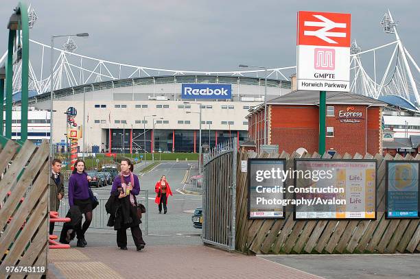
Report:
[[215,147],[203,158],[202,241],[235,250],[237,139]]

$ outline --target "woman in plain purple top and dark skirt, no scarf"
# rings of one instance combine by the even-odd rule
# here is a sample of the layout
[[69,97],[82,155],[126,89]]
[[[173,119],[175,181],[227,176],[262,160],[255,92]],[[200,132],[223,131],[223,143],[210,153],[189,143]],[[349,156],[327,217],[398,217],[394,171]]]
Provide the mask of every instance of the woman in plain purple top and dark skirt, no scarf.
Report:
[[73,174],[69,178],[69,204],[78,206],[80,212],[84,214],[84,223],[82,220],[75,226],[76,236],[78,238],[78,247],[87,245],[84,239],[84,233],[91,225],[92,221],[92,200],[89,192],[89,181],[91,177],[84,171],[84,161],[77,160],[74,164]]

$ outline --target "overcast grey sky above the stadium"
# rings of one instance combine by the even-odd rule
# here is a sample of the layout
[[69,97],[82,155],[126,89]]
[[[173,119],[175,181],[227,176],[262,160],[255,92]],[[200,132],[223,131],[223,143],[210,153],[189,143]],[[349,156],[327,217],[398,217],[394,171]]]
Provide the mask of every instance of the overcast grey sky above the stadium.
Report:
[[[5,29],[18,0],[2,0],[1,54]],[[293,3],[296,2],[296,3]],[[38,14],[34,40],[49,45],[51,35],[89,32],[77,38],[76,53],[139,66],[197,71],[235,71],[238,64],[268,67],[296,64],[296,12],[351,13],[351,36],[363,49],[395,40],[380,19],[389,8],[401,40],[420,57],[420,1],[28,1]],[[65,38],[56,40],[60,47]],[[0,55],[1,55],[0,54]],[[390,53],[377,53],[379,60]],[[419,64],[419,62],[417,62]]]

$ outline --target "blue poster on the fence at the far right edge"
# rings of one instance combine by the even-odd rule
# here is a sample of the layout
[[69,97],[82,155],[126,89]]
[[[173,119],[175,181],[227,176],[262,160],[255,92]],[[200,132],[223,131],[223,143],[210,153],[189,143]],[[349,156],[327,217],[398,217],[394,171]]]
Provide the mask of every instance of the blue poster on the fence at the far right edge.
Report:
[[386,162],[386,218],[419,218],[420,162]]

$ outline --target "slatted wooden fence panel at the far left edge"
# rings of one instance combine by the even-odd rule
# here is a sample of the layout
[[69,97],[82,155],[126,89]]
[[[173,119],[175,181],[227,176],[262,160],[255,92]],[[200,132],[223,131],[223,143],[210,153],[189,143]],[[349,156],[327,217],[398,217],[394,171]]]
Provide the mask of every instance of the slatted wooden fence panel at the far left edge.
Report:
[[47,141],[0,147],[0,278],[47,272],[48,156]]

